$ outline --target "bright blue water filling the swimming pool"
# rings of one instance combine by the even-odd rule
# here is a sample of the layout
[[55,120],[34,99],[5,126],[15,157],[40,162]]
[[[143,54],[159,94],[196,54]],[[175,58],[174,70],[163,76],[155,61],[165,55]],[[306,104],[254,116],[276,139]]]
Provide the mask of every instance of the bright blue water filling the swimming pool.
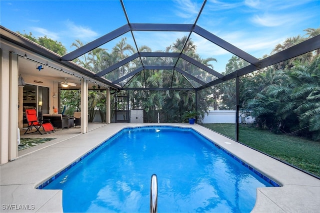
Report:
[[43,189],[62,189],[64,212],[250,212],[262,178],[191,129],[127,128]]

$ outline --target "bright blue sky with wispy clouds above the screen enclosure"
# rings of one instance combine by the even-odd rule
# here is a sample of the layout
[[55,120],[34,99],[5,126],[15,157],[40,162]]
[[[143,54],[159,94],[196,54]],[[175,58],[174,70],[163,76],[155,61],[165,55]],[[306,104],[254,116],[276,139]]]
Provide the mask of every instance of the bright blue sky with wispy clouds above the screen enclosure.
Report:
[[[123,0],[130,22],[194,23],[202,0]],[[197,25],[259,58],[286,38],[320,27],[320,0],[208,0]],[[60,41],[68,51],[75,39],[92,41],[124,24],[118,0],[1,0],[0,24]],[[182,32],[133,32],[137,45],[164,49]],[[125,34],[133,44],[131,34]],[[219,72],[231,54],[195,33],[191,39],[201,57],[214,57]],[[103,45],[110,50],[119,39]]]

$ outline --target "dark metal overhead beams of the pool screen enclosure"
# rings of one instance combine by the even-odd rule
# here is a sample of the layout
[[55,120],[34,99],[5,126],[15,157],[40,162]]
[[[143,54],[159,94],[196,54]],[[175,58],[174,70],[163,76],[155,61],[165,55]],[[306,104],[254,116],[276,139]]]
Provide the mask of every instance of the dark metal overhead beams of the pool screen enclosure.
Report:
[[[195,90],[199,91],[201,89],[213,86],[215,84],[230,80],[232,78],[236,78],[242,75],[245,75],[247,73],[256,71],[258,69],[265,68],[267,66],[276,64],[278,62],[290,59],[292,57],[304,54],[306,52],[313,51],[315,49],[319,48],[319,35],[315,36],[313,38],[310,38],[308,40],[305,40],[297,45],[294,45],[288,49],[285,49],[283,51],[280,51],[278,53],[275,53],[273,55],[270,55],[263,59],[257,59],[254,56],[250,55],[249,53],[237,48],[236,46],[228,43],[227,41],[219,38],[218,36],[214,35],[213,33],[203,29],[202,27],[198,26],[197,20],[201,15],[202,9],[205,6],[206,0],[203,0],[203,3],[201,5],[201,8],[199,9],[199,12],[197,14],[197,17],[192,24],[170,24],[170,23],[131,23],[129,21],[125,5],[123,3],[123,0],[120,0],[123,13],[125,15],[127,24],[124,24],[123,26],[79,47],[78,49],[75,49],[74,51],[71,51],[65,55],[63,55],[60,60],[61,61],[72,61],[75,58],[80,57],[81,55],[100,47],[101,45],[108,43],[112,41],[115,38],[118,38],[119,36],[123,34],[131,34],[132,39],[134,41],[134,46],[136,52],[123,60],[99,71],[95,74],[96,77],[105,77],[108,73],[111,72],[117,72],[118,69],[128,63],[131,63],[132,61],[138,61],[139,66],[136,67],[134,70],[129,70],[125,74],[119,76],[117,79],[107,79],[111,81],[111,84],[114,88],[118,88],[120,90]],[[188,34],[186,41],[184,42],[182,49],[180,52],[145,52],[145,51],[139,51],[137,43],[135,41],[134,32],[138,31],[158,31],[158,32],[186,32]],[[243,68],[240,68],[238,70],[233,71],[232,73],[229,73],[227,75],[222,75],[221,73],[215,71],[214,69],[200,63],[199,61],[193,59],[192,57],[189,57],[188,55],[184,54],[185,45],[190,38],[191,34],[195,33],[198,36],[201,36],[202,38],[212,42],[213,44],[223,48],[224,50],[230,52],[231,54],[245,60],[249,63],[248,66],[245,66]],[[154,64],[150,65],[146,63],[146,60],[148,58],[169,58],[174,59],[172,61],[175,61],[174,65],[172,64]],[[192,75],[192,70],[183,70],[181,67],[178,66],[178,61],[186,61],[187,63],[194,66],[196,69],[201,70],[201,72],[212,76],[211,81],[205,82],[203,79],[196,75]],[[191,84],[188,88],[174,88],[174,87],[163,87],[163,88],[146,88],[146,87],[127,87],[127,83],[129,82],[130,78],[132,78],[135,74],[142,72],[143,70],[172,70],[172,72],[178,72],[180,73],[187,81],[191,79],[192,81],[196,82],[196,84]],[[173,75],[173,73],[172,73]],[[119,85],[119,83],[121,85]],[[145,84],[146,85],[146,84]],[[171,84],[172,85],[172,84]]]

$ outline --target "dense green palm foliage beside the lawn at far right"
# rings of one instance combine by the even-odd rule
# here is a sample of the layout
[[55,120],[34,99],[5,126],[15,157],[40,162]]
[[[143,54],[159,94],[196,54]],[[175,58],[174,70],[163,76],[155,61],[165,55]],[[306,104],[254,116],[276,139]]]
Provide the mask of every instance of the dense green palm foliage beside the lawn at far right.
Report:
[[269,130],[320,140],[320,56],[310,64],[292,63],[290,69],[270,69],[265,75],[270,84],[248,101],[247,107]]

